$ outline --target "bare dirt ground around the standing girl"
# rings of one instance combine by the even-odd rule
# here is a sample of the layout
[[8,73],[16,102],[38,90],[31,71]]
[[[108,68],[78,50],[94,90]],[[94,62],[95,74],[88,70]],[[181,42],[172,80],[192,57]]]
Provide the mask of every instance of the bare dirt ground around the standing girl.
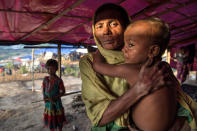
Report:
[[[67,92],[81,89],[80,78],[62,78]],[[36,92],[31,91],[32,81],[0,83],[0,131],[48,131],[43,127],[44,103],[42,99],[42,79],[35,80]],[[81,101],[76,102],[80,93],[62,97],[68,124],[63,131],[89,131],[90,121]]]

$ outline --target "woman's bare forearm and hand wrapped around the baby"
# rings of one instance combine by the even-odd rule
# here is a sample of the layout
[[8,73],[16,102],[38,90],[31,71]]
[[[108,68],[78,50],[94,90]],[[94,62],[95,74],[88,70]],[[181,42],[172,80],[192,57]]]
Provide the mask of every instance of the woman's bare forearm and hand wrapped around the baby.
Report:
[[118,99],[111,101],[108,108],[103,113],[99,126],[103,126],[126,112],[140,98],[152,89],[156,89],[164,85],[164,75],[162,70],[158,69],[158,63],[149,67],[150,61],[147,61],[140,70],[139,78],[133,88],[130,88]]

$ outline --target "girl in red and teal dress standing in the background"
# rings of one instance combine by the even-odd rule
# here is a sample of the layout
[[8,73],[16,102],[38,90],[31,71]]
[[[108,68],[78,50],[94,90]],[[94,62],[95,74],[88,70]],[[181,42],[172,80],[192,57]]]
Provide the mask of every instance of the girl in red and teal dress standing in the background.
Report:
[[44,124],[51,131],[59,129],[62,131],[66,122],[61,96],[65,93],[64,84],[61,78],[56,75],[58,62],[49,59],[45,65],[49,76],[46,76],[42,83],[43,98],[45,102]]

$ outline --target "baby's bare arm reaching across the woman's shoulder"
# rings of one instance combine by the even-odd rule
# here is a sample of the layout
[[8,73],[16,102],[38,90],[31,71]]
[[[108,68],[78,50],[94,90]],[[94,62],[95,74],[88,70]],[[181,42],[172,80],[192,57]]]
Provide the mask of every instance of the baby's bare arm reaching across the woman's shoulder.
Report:
[[128,78],[139,72],[139,68],[133,64],[112,65],[106,63],[98,50],[93,54],[93,68],[100,74],[121,78]]

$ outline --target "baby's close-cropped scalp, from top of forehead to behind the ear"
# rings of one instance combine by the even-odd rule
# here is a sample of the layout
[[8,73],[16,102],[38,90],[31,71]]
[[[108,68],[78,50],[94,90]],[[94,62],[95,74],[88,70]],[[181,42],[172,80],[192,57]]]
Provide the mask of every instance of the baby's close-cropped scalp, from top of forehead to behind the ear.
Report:
[[150,43],[156,44],[160,47],[158,56],[161,57],[165,52],[170,40],[170,30],[168,24],[159,18],[151,17],[132,22],[126,30],[140,23],[147,23],[150,25],[150,30],[148,30],[146,34],[149,37]]

